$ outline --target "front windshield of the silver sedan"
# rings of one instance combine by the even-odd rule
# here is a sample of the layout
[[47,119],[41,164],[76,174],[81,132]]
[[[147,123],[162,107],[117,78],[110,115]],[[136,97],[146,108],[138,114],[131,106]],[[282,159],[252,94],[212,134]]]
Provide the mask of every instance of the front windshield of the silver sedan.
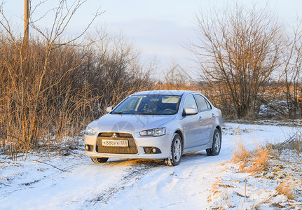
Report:
[[180,96],[164,94],[132,95],[119,104],[113,114],[173,115],[177,113]]

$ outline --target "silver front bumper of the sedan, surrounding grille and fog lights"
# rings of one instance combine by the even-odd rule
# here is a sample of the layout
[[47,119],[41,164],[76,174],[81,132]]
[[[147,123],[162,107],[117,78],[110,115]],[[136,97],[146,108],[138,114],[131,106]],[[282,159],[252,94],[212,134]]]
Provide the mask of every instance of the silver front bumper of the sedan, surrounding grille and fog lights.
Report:
[[[131,133],[137,146],[137,154],[115,154],[115,153],[98,153],[96,151],[97,134],[85,135],[84,144],[92,145],[92,151],[85,151],[85,155],[91,158],[135,158],[135,159],[165,159],[169,158],[172,142],[172,134],[165,134],[160,137],[141,137],[138,132]],[[144,151],[144,147],[159,148],[161,153],[150,154]]]

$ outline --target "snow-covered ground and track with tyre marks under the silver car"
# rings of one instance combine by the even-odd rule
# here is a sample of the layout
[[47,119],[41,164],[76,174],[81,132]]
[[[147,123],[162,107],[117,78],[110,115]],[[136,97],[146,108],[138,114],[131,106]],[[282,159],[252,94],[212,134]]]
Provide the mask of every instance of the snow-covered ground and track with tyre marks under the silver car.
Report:
[[[238,139],[252,150],[255,142],[276,144],[298,129],[226,123],[219,156],[184,155],[177,167],[159,160],[109,159],[97,165],[83,150],[68,156],[34,153],[15,162],[0,156],[0,209],[301,209],[301,186],[295,200],[288,200],[276,194],[279,176],[252,176],[228,162]],[[291,176],[301,179],[302,160],[292,160],[297,165]]]

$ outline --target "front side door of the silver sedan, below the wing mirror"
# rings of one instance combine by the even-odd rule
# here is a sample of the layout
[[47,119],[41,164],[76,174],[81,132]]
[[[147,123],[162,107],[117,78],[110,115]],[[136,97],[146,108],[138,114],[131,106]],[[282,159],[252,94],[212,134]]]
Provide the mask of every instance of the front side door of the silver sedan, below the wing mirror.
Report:
[[[193,94],[189,94],[184,101],[184,108],[198,109]],[[200,116],[185,116],[181,120],[181,126],[184,132],[184,148],[199,146],[202,136],[200,135]]]

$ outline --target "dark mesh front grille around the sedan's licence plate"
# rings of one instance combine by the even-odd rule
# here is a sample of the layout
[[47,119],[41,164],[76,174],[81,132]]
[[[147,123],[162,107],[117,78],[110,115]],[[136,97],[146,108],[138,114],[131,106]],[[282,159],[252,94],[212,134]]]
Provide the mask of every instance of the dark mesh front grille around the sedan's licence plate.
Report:
[[[108,140],[128,140],[128,147],[121,146],[102,146],[102,139]],[[99,133],[97,137],[97,145],[95,148],[97,153],[113,153],[113,154],[137,154],[137,146],[135,144],[135,139],[132,137],[132,134],[127,133]]]

